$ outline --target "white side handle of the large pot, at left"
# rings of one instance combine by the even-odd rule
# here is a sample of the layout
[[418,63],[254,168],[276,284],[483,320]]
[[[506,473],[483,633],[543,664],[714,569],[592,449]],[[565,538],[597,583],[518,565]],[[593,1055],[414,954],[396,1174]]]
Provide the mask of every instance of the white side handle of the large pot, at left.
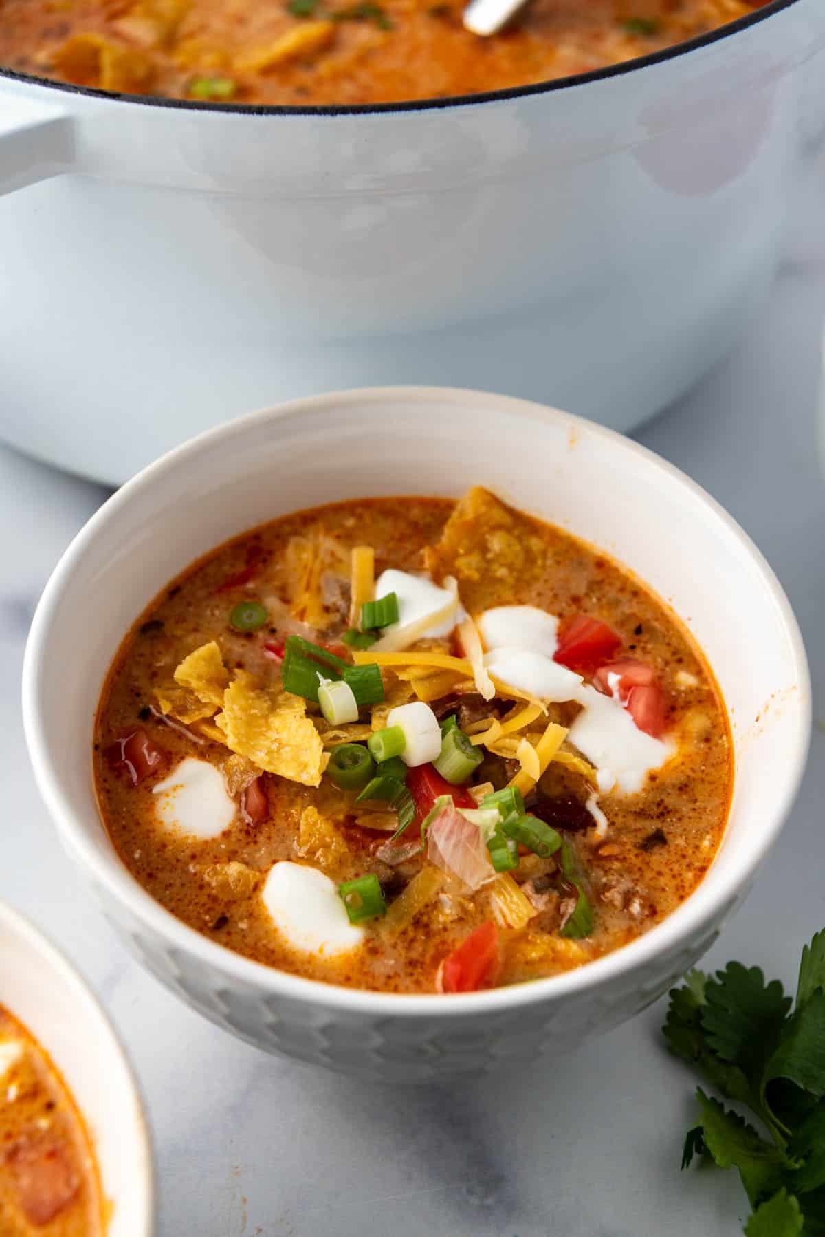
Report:
[[0,106],[0,194],[67,172],[73,121],[61,108],[6,95]]

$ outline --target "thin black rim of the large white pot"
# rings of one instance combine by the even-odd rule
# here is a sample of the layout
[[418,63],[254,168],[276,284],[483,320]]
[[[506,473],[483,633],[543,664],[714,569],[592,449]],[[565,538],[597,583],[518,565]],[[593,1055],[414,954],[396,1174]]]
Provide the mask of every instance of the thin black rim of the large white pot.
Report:
[[501,103],[507,99],[523,99],[536,94],[552,94],[557,90],[566,90],[578,85],[586,85],[590,82],[605,82],[613,77],[623,77],[644,69],[651,64],[662,64],[665,61],[677,59],[690,52],[709,47],[722,38],[731,38],[742,30],[748,30],[761,21],[789,9],[799,0],[768,0],[767,4],[753,12],[737,17],[736,21],[725,22],[714,30],[698,35],[695,38],[683,40],[662,51],[649,52],[647,56],[635,56],[630,61],[620,61],[617,64],[607,64],[600,69],[591,69],[589,73],[574,73],[563,78],[548,78],[543,82],[533,82],[528,85],[510,87],[503,90],[484,90],[477,94],[456,94],[443,99],[409,99],[400,103],[350,103],[350,104],[307,104],[303,106],[293,104],[245,104],[245,103],[202,103],[195,99],[161,99],[147,94],[121,94],[115,90],[100,90],[92,87],[73,85],[71,82],[56,82],[51,78],[36,77],[32,73],[20,73],[15,69],[0,66],[0,82],[6,78],[11,82],[20,82],[24,85],[46,87],[67,94],[75,94],[89,99],[104,99],[113,104],[124,103],[127,105],[139,104],[141,106],[171,108],[184,111],[208,113],[234,113],[246,116],[365,116],[380,114],[396,114],[403,111],[433,111],[442,108],[476,106],[484,103]]

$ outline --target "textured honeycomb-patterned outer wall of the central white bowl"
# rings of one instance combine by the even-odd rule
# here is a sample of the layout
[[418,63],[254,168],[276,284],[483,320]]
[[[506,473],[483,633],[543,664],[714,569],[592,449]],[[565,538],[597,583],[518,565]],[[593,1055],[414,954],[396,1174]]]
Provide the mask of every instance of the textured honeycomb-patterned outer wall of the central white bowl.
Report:
[[[559,1044],[583,1044],[627,1022],[657,1001],[716,940],[746,894],[719,909],[712,922],[643,965],[594,986],[585,1001],[564,995],[532,1006],[475,1017],[450,1016],[449,1003],[407,1019],[396,1013],[348,1011],[273,995],[270,985],[239,980],[221,966],[176,949],[130,915],[101,887],[94,889],[106,918],[130,951],[166,987],[224,1030],[263,1051],[375,1082],[438,1082],[477,1076],[501,1061],[558,1055]],[[397,998],[403,1002],[403,997]]]

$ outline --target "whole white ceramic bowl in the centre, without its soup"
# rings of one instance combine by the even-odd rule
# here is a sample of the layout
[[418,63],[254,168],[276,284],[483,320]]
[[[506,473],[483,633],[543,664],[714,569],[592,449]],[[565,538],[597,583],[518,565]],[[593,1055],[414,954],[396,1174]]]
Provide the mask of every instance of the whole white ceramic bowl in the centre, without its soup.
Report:
[[[359,992],[231,954],[152,901],[98,816],[92,727],[124,633],[172,576],[245,528],[331,500],[459,495],[474,482],[633,568],[705,649],[736,746],[731,819],[716,862],[693,897],[626,949],[498,991],[450,998]],[[41,792],[139,959],[213,1022],[263,1049],[396,1081],[557,1051],[658,997],[745,897],[793,802],[810,732],[805,653],[788,601],[712,499],[642,447],[564,412],[422,387],[255,413],[146,469],[57,567],[32,625],[24,678]]]

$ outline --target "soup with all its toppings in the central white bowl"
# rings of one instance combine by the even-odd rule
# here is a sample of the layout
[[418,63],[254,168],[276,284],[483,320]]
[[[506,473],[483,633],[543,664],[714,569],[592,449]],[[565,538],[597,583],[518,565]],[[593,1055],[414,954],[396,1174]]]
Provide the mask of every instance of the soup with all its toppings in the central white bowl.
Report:
[[486,490],[286,516],[126,636],[100,811],[212,941],[386,992],[541,978],[674,910],[732,753],[714,677],[631,573]]

